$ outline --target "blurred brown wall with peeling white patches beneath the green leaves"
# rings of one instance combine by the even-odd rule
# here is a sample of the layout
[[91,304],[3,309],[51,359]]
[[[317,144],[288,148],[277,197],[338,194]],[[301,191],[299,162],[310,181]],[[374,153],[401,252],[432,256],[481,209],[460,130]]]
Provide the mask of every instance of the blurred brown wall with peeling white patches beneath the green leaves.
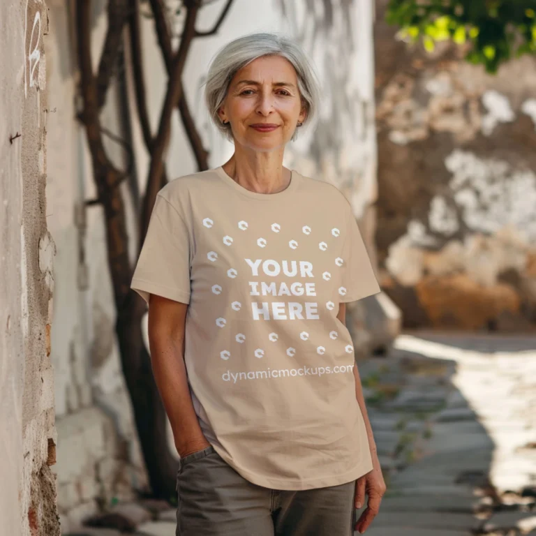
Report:
[[408,327],[536,325],[536,60],[395,39],[378,3],[378,256]]

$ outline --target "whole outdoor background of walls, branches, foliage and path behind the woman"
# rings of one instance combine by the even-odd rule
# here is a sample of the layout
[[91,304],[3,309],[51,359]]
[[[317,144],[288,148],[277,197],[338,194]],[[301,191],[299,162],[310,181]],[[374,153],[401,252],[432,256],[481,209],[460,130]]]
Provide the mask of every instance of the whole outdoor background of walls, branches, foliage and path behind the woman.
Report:
[[156,192],[232,154],[210,59],[292,36],[322,110],[285,165],[350,200],[387,495],[371,536],[536,534],[534,0],[4,0],[1,534],[174,535],[177,453],[129,290]]

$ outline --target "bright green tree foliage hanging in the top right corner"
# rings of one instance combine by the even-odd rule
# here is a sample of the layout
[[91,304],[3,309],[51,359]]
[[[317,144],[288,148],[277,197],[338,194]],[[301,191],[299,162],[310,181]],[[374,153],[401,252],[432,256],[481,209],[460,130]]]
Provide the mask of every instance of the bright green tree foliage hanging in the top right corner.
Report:
[[489,73],[536,53],[536,0],[390,0],[387,22],[429,52],[443,40],[470,45],[466,60]]

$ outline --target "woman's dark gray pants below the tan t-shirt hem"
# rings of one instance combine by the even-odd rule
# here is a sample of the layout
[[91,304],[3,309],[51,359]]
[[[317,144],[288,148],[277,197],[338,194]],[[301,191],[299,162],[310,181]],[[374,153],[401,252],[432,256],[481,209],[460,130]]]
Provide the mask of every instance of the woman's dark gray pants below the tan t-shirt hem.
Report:
[[214,447],[181,459],[177,536],[351,536],[355,480],[278,491],[241,477]]

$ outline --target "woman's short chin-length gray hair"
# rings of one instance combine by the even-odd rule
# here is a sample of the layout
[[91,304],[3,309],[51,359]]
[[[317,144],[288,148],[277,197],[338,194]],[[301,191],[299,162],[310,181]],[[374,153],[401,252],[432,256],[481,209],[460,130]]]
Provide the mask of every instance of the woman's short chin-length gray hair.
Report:
[[[225,45],[211,61],[204,98],[214,124],[232,140],[230,124],[223,124],[218,110],[225,101],[232,77],[251,61],[264,56],[281,56],[295,68],[301,102],[306,109],[304,124],[311,124],[318,114],[320,84],[311,62],[301,47],[288,37],[259,33],[239,37]],[[297,129],[292,140],[297,137]]]

